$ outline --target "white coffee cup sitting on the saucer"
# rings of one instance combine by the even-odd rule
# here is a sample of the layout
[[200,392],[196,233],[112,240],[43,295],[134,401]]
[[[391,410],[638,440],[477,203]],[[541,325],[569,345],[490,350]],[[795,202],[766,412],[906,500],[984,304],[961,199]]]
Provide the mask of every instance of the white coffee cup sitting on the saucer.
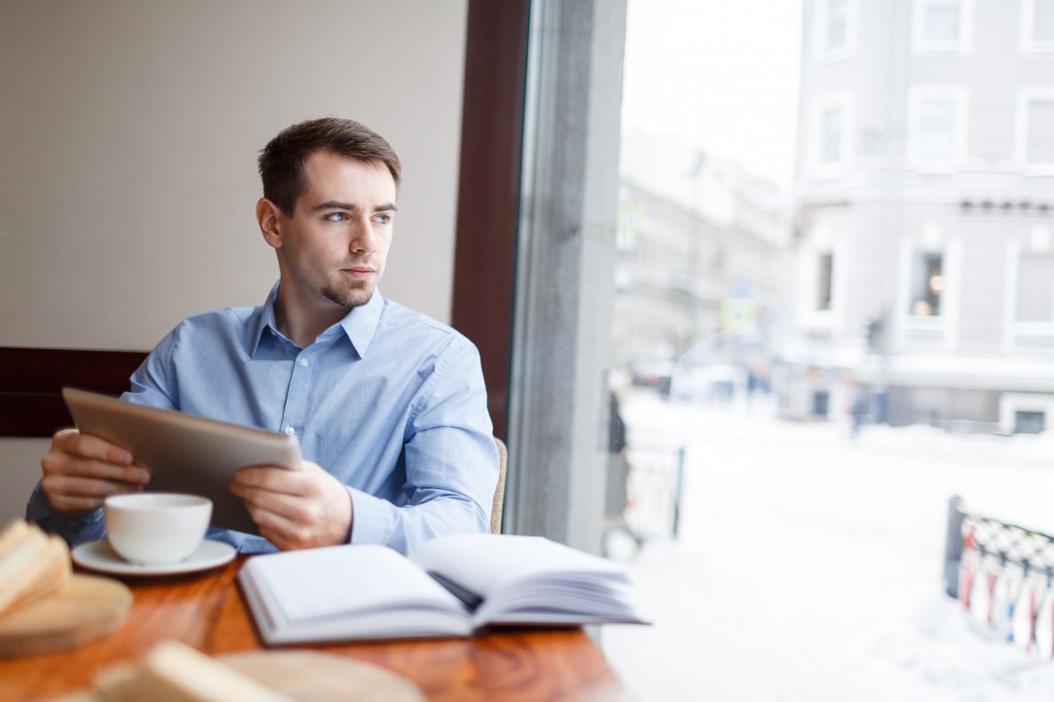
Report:
[[105,505],[110,545],[139,565],[184,560],[201,545],[212,518],[212,500],[197,495],[115,495]]

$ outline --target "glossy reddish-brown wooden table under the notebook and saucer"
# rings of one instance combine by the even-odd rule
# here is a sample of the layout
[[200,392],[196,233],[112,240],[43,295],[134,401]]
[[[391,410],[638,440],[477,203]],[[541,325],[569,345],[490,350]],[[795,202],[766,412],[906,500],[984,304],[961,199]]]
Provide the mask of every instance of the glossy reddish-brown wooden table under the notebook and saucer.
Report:
[[[179,639],[209,654],[261,648],[235,582],[243,560],[207,574],[124,580],[135,603],[120,630],[69,651],[0,660],[0,700],[39,700],[87,689],[100,670],[138,660],[161,639]],[[579,629],[309,647],[399,673],[430,700],[627,697],[600,650]]]

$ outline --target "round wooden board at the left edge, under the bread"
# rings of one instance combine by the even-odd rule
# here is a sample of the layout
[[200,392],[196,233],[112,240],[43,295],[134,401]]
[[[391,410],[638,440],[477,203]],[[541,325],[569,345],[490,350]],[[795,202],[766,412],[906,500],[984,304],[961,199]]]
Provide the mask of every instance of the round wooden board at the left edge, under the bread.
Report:
[[0,616],[0,658],[74,648],[128,621],[132,590],[97,576],[71,576],[56,591]]

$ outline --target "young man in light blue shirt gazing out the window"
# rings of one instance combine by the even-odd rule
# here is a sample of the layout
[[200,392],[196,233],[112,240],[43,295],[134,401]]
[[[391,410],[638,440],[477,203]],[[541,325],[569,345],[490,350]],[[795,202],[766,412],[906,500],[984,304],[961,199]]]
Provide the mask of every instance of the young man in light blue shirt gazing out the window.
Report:
[[[132,376],[130,402],[296,435],[301,470],[231,482],[260,537],[240,551],[379,543],[406,551],[486,531],[497,452],[479,352],[377,289],[392,242],[398,157],[357,122],[282,131],[259,157],[256,219],[279,279],[260,307],[183,320]],[[101,505],[150,476],[135,457],[64,429],[27,518],[72,544],[104,538]]]

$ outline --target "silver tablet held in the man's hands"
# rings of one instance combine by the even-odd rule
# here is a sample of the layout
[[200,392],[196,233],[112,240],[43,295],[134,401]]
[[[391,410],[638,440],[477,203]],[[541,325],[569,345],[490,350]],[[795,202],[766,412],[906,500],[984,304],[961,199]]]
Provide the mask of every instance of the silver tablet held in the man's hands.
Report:
[[259,534],[241,499],[229,489],[231,478],[248,465],[300,464],[295,437],[70,387],[62,397],[81,433],[129,449],[135,464],[150,472],[147,489],[212,500],[213,526]]

